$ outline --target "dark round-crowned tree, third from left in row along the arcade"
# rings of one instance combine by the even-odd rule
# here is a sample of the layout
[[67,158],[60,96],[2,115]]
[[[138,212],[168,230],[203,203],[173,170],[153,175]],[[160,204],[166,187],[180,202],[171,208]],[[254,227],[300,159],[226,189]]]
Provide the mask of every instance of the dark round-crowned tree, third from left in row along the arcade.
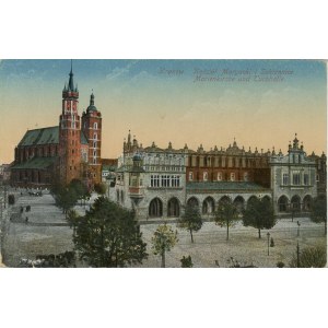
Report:
[[276,223],[277,219],[270,199],[254,197],[248,201],[247,208],[244,210],[243,224],[257,229],[259,238],[262,229],[271,229]]

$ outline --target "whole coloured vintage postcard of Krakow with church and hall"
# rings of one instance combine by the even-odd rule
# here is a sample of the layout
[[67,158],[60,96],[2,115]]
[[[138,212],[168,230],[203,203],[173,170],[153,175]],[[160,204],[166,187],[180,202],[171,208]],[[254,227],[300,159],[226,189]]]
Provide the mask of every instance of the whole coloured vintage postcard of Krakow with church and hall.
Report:
[[1,60],[1,266],[321,268],[324,60]]

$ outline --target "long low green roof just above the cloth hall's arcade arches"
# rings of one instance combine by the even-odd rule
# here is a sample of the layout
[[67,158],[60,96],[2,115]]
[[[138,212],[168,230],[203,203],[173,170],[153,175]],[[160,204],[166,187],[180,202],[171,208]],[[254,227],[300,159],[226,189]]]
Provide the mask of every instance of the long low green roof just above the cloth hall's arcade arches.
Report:
[[248,181],[200,181],[200,183],[187,183],[186,185],[187,191],[204,191],[204,190],[216,190],[216,191],[225,191],[225,190],[234,190],[234,191],[260,191],[270,189],[265,188],[255,183]]

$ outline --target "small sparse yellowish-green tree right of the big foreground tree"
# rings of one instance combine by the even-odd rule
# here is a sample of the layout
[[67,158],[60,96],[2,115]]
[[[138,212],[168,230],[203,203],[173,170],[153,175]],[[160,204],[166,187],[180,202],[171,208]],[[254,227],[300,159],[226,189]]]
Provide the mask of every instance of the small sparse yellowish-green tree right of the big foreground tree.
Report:
[[162,258],[162,268],[165,268],[165,253],[169,251],[178,242],[177,231],[173,231],[166,223],[159,225],[152,236],[152,250]]

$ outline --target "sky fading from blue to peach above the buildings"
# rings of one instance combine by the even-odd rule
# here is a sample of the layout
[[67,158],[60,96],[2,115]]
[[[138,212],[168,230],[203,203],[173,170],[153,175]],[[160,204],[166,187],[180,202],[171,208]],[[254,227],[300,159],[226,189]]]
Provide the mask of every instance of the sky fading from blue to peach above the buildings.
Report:
[[[12,160],[26,129],[58,124],[70,66],[70,60],[0,61],[0,110],[5,117],[0,162]],[[176,148],[202,143],[209,150],[225,148],[236,138],[247,148],[285,151],[297,132],[308,151],[326,150],[323,61],[79,59],[73,60],[73,72],[80,114],[92,90],[102,110],[105,157],[119,155],[129,129],[144,145],[172,141]],[[198,75],[234,80],[199,81]],[[238,81],[245,77],[249,80]],[[267,77],[281,80],[261,80]]]

